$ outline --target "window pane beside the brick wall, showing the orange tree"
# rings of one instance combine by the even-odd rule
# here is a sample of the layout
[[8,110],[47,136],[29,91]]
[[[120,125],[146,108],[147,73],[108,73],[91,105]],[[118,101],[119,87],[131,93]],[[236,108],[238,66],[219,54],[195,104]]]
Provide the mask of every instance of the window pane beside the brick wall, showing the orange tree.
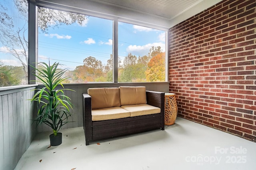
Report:
[[118,82],[165,81],[165,32],[118,22]]

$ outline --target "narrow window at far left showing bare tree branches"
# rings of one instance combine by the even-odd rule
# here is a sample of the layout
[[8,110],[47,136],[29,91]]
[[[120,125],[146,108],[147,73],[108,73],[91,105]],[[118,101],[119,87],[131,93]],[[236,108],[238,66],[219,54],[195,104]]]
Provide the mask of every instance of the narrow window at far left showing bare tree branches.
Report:
[[28,84],[28,2],[0,1],[0,87]]

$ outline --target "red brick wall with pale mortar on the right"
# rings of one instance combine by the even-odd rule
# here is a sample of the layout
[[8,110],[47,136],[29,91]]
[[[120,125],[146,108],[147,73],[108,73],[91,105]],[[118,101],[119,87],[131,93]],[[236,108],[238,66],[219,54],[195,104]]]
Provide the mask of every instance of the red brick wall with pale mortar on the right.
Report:
[[178,116],[256,141],[256,1],[224,0],[168,41]]

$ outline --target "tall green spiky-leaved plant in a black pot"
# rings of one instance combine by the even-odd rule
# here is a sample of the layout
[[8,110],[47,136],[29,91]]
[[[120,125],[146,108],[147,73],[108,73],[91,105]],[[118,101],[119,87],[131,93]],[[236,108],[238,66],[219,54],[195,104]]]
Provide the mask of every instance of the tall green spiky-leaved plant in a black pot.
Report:
[[[70,98],[64,94],[62,82],[68,77],[64,76],[67,69],[60,69],[59,63],[54,63],[52,66],[44,62],[38,63],[38,68],[34,68],[33,75],[38,78],[34,80],[44,85],[38,90],[31,99],[31,102],[35,101],[38,106],[38,113],[33,123],[36,121],[36,125],[46,124],[53,130],[53,134],[50,135],[50,145],[58,146],[62,143],[62,133],[58,132],[60,128],[68,123],[68,118],[71,117],[70,108],[73,104],[70,102]],[[56,89],[60,85],[62,89]],[[74,91],[74,90],[72,90]]]

